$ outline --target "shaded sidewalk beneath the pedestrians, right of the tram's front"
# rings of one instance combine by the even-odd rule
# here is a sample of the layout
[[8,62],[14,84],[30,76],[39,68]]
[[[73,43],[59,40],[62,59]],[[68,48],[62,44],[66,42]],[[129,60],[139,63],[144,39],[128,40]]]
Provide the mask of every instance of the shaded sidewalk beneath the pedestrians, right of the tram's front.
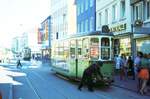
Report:
[[[114,86],[137,92],[138,90],[137,79],[132,80],[132,78],[129,77],[126,78],[125,80],[120,80],[120,77],[118,75],[116,75],[114,79],[115,79],[113,83]],[[150,96],[150,86],[148,86],[147,88],[148,88],[148,92],[146,93],[146,95]]]

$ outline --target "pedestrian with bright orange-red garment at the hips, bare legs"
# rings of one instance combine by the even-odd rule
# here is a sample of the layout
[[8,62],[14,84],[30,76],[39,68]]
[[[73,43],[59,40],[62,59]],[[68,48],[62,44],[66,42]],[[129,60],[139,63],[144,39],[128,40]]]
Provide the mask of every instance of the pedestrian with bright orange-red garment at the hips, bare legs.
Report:
[[138,73],[138,78],[141,81],[141,86],[140,86],[140,94],[144,94],[145,93],[145,89],[146,89],[146,85],[147,82],[149,80],[149,70],[148,70],[148,58],[147,58],[147,54],[144,54],[143,57],[141,58],[141,70]]

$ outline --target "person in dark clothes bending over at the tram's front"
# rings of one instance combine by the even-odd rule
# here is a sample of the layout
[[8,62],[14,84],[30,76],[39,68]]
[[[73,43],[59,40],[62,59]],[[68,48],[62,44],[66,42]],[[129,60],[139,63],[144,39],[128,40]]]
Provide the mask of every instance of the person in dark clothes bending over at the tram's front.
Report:
[[100,72],[100,66],[102,66],[102,63],[98,62],[97,64],[94,63],[90,65],[84,70],[81,82],[78,86],[78,89],[80,91],[83,85],[87,85],[89,91],[94,91],[93,90],[93,78],[98,77],[98,76],[103,78]]

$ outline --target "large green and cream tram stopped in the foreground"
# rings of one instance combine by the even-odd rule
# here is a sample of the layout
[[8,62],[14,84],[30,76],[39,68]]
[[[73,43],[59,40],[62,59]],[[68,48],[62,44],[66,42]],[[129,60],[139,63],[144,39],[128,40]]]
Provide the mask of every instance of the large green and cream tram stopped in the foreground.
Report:
[[[102,61],[101,73],[113,81],[113,35],[100,31],[73,35],[52,43],[52,70],[71,79],[81,79],[91,63]],[[110,84],[110,83],[109,83]]]

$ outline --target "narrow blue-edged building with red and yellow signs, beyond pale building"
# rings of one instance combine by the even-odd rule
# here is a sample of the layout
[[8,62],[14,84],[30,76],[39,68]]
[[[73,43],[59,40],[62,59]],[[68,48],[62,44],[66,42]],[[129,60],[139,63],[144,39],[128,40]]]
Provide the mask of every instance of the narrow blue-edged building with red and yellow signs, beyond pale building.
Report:
[[[51,55],[51,16],[48,16],[42,23],[41,29],[38,31],[41,37],[41,51],[42,57],[50,59]],[[40,39],[39,39],[40,43]]]

